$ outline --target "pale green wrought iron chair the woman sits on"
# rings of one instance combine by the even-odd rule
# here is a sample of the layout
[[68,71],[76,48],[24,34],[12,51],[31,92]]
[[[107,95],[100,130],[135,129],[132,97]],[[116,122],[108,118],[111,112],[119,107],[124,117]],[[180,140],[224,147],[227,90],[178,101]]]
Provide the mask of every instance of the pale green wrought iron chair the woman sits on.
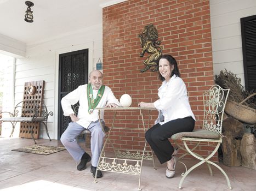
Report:
[[[218,151],[218,148],[222,142],[223,135],[221,134],[221,128],[223,122],[224,108],[226,105],[227,96],[229,95],[229,90],[230,89],[223,89],[218,85],[213,85],[208,91],[203,94],[204,115],[202,129],[195,129],[193,132],[181,132],[172,135],[171,139],[174,140],[175,144],[177,144],[177,146],[181,150],[185,151],[185,154],[180,156],[179,159],[183,158],[187,154],[191,154],[193,157],[200,160],[200,162],[192,166],[189,170],[187,170],[186,168],[186,172],[181,175],[182,177],[179,182],[179,189],[182,189],[182,184],[185,177],[192,170],[204,163],[207,164],[211,176],[213,175],[213,172],[210,164],[218,168],[226,178],[227,187],[229,189],[232,189],[229,177],[227,177],[226,172],[222,168],[220,168],[219,165],[215,164],[210,160]],[[178,143],[178,141],[180,142],[180,140],[183,142],[185,148]],[[196,143],[193,148],[189,148],[189,146],[187,146],[187,144],[191,142]],[[203,142],[212,142],[212,144],[215,145],[212,153],[209,154],[209,156],[206,158],[203,158],[195,151],[196,148],[200,146],[200,144]]]

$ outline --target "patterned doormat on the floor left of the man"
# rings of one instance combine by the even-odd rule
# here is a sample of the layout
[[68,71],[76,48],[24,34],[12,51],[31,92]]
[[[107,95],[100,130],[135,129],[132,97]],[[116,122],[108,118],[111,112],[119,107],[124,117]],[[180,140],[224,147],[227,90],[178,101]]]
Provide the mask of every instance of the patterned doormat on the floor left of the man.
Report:
[[12,151],[48,155],[48,154],[56,153],[63,150],[66,150],[66,148],[46,146],[46,145],[36,145],[36,146],[29,146],[25,148],[17,148]]

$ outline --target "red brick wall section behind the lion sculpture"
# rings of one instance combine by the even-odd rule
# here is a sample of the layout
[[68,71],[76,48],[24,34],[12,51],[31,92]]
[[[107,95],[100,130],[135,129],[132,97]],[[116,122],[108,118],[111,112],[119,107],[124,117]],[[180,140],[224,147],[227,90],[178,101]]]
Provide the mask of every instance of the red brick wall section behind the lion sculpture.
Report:
[[[214,84],[209,0],[133,0],[104,8],[104,83],[112,88],[118,99],[124,93],[130,94],[132,106],[137,106],[141,101],[154,102],[157,99],[157,89],[162,83],[158,80],[157,72],[147,70],[140,73],[140,69],[144,68],[143,61],[149,54],[139,57],[141,46],[138,35],[150,23],[158,30],[163,54],[177,59],[197,119],[196,128],[199,128],[203,118],[202,93]],[[109,126],[112,115],[113,112],[105,112]],[[152,126],[157,112],[151,112],[150,117],[145,114],[145,117]],[[122,128],[139,127],[141,130],[114,131],[111,137],[115,146],[144,146],[144,131],[138,112],[117,112],[116,122],[116,126]],[[201,147],[201,154],[208,154],[209,147]]]

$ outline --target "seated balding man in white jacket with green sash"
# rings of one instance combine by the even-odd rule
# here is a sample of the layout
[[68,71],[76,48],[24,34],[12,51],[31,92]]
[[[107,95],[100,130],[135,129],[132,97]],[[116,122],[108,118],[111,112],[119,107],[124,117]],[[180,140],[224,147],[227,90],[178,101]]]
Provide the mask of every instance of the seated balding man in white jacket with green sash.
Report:
[[[86,164],[92,159],[90,172],[93,177],[96,174],[96,166],[100,157],[100,152],[103,147],[105,133],[103,132],[98,117],[96,107],[117,107],[120,103],[113,95],[111,89],[103,85],[103,74],[99,70],[93,70],[89,74],[89,82],[86,85],[79,86],[74,91],[67,94],[61,99],[61,106],[65,116],[70,116],[71,123],[61,135],[61,142],[71,154],[73,159],[80,163],[77,170],[86,169]],[[78,115],[74,115],[72,105],[79,101]],[[101,119],[104,117],[104,112],[101,112]],[[103,125],[104,121],[101,121]],[[90,149],[92,157],[89,156],[77,143],[76,137],[87,128],[91,132]],[[102,177],[101,171],[98,170],[97,178]]]

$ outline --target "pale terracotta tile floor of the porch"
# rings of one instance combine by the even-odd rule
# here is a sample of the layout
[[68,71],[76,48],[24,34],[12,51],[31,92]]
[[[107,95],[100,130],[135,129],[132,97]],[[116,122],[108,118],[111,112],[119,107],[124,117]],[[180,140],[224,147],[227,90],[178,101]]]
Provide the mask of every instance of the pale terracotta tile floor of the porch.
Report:
[[[38,145],[62,146],[58,140],[37,140]],[[80,143],[84,147],[84,142]],[[139,176],[112,172],[103,172],[104,177],[94,183],[89,168],[76,170],[76,163],[67,151],[61,151],[48,156],[11,151],[33,145],[31,139],[0,138],[0,189],[7,190],[106,190],[126,191],[138,190]],[[197,160],[183,160],[187,166]],[[90,164],[88,164],[89,167]],[[230,178],[233,190],[256,190],[256,170],[238,167],[228,167],[220,164]],[[153,170],[152,161],[143,163],[141,189],[143,190],[179,190],[181,173],[185,168],[177,164],[176,175],[172,179],[165,177],[166,166],[156,159]],[[183,182],[183,190],[229,190],[221,172],[213,169],[214,176],[209,176],[206,165],[192,171]]]

